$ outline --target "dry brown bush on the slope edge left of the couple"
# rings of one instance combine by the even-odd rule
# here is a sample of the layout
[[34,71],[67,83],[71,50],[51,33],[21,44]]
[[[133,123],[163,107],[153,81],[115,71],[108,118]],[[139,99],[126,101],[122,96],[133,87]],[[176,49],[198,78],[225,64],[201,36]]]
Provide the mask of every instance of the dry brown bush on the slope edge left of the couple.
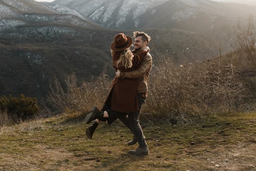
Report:
[[48,95],[48,104],[55,110],[68,113],[88,112],[92,106],[103,105],[108,96],[111,80],[108,77],[99,77],[92,82],[84,82],[77,86],[74,75],[67,77],[65,86],[61,86],[56,79],[54,86],[51,86],[51,93]]

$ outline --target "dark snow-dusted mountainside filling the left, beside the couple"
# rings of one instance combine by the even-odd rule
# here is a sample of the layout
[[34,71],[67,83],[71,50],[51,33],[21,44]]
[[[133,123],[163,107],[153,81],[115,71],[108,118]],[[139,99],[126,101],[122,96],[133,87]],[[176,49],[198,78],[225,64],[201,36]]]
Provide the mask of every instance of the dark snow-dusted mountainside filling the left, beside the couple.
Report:
[[81,82],[108,68],[113,32],[32,0],[0,0],[0,9],[0,95],[46,97],[55,78]]

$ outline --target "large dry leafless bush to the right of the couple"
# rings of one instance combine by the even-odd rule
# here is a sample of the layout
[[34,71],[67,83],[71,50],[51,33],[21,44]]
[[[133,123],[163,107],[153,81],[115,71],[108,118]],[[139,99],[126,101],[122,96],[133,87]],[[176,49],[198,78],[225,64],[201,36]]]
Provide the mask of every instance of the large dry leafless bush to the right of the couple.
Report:
[[164,56],[159,63],[152,69],[143,109],[155,118],[188,121],[192,116],[246,109],[249,92],[232,64],[209,60],[177,67]]

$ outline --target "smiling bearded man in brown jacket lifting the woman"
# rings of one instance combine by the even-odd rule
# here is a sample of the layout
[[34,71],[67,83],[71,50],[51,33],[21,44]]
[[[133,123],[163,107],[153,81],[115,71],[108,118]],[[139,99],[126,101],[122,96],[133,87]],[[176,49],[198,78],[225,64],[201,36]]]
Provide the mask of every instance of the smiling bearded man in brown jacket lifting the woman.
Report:
[[[148,36],[144,32],[134,32],[134,51],[143,50],[147,47],[148,43],[151,40],[151,37]],[[150,53],[143,58],[141,66],[137,70],[133,70],[130,72],[116,72],[116,77],[121,78],[139,78],[139,86],[137,89],[137,98],[139,103],[139,111],[130,113],[128,117],[128,122],[130,128],[134,134],[134,139],[128,142],[129,145],[135,144],[136,142],[139,143],[139,147],[136,150],[130,150],[129,153],[132,155],[148,155],[148,147],[145,141],[145,137],[143,135],[143,131],[141,129],[139,123],[139,116],[142,104],[145,102],[147,97],[147,82],[148,82],[148,75],[150,74],[152,67],[152,56]]]

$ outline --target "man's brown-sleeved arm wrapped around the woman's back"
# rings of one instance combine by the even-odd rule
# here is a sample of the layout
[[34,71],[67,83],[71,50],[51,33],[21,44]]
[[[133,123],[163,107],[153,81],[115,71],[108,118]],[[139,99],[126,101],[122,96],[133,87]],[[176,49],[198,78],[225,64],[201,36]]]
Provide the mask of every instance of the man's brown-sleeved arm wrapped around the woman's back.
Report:
[[152,56],[148,53],[142,60],[138,69],[130,72],[120,72],[121,78],[140,78],[142,77],[152,66]]

